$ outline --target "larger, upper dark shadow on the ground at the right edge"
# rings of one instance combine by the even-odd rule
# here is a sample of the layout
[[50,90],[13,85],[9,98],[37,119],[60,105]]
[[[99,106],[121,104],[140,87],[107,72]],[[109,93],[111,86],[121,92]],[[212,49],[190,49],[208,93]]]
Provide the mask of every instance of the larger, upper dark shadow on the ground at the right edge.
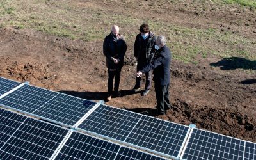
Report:
[[223,58],[223,60],[216,63],[210,63],[210,65],[213,67],[220,67],[221,70],[235,70],[239,68],[245,70],[256,70],[256,61],[240,57]]

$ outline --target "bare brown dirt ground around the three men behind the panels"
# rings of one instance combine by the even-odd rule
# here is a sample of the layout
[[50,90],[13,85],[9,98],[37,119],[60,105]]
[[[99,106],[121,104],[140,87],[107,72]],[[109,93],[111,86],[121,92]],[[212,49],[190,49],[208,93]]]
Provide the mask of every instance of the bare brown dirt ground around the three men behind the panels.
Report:
[[[102,5],[108,7],[108,4]],[[172,23],[206,28],[207,20],[211,19],[215,28],[230,26],[234,31],[239,30],[239,34],[256,37],[253,27],[256,19],[253,19],[255,14],[252,12],[227,14],[220,9],[200,15],[204,11],[191,13],[179,10],[179,7],[167,9],[172,10]],[[168,17],[168,14],[163,13],[163,16]],[[243,19],[244,15],[251,20]],[[182,20],[184,16],[189,20]],[[221,26],[220,22],[214,21],[218,21],[218,17],[226,19]],[[249,27],[233,23],[234,18],[241,23],[246,21]],[[198,58],[197,65],[172,60],[170,100],[173,109],[166,116],[157,116],[154,115],[154,87],[145,97],[140,92],[130,92],[135,83],[136,66],[132,44],[128,47],[120,83],[122,97],[106,102],[107,105],[179,124],[193,123],[201,129],[256,142],[256,76],[246,72],[246,69],[256,70],[256,61],[243,58],[223,60],[214,55]],[[241,70],[239,63],[244,61],[250,61],[251,68]],[[102,41],[68,40],[30,29],[0,29],[1,77],[29,81],[34,86],[97,102],[107,95],[107,71]],[[145,77],[142,88],[144,84]]]

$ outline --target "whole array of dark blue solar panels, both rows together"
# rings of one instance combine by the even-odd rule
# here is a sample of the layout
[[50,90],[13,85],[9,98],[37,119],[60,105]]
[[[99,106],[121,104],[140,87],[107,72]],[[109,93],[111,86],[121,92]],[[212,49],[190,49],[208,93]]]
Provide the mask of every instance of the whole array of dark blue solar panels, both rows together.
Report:
[[[256,159],[256,144],[252,142],[1,77],[0,87],[0,106],[71,128],[4,110],[0,117],[0,159],[161,159],[81,132],[173,159]],[[21,156],[27,154],[29,157]]]

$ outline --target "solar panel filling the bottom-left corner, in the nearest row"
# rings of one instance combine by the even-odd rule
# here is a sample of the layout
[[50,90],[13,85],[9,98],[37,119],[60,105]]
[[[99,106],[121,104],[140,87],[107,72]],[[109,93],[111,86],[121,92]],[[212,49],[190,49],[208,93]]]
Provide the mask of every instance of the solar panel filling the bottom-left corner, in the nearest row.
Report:
[[[1,159],[49,159],[68,129],[0,109]],[[11,124],[11,125],[10,125]],[[2,137],[6,137],[3,138]]]

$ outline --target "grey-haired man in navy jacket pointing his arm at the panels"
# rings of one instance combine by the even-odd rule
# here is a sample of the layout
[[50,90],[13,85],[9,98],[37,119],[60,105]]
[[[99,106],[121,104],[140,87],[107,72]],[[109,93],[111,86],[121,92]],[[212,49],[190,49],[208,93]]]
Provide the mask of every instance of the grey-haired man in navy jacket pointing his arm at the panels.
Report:
[[165,115],[166,110],[171,108],[169,102],[169,84],[170,84],[170,63],[172,54],[166,46],[166,38],[158,36],[155,45],[156,53],[152,62],[137,72],[137,76],[149,70],[154,70],[153,80],[155,82],[155,92],[157,99],[157,110],[159,115]]

